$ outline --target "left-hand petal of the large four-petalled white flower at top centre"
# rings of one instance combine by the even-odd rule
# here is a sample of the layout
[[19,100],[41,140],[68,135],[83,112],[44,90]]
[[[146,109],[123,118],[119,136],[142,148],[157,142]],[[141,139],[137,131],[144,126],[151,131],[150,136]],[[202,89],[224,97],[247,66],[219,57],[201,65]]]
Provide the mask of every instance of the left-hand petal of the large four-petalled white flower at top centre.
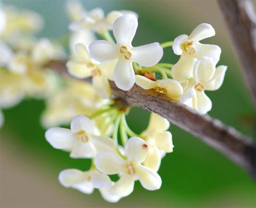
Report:
[[105,40],[93,41],[89,46],[91,58],[97,61],[109,61],[118,58],[116,44]]

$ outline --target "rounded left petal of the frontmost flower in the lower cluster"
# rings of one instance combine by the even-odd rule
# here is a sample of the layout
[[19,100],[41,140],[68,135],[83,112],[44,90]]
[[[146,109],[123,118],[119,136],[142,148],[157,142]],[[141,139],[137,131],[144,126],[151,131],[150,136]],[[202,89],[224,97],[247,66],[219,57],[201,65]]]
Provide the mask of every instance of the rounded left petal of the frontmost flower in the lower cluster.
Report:
[[113,151],[99,152],[94,159],[95,166],[105,174],[117,174],[122,171],[124,160]]

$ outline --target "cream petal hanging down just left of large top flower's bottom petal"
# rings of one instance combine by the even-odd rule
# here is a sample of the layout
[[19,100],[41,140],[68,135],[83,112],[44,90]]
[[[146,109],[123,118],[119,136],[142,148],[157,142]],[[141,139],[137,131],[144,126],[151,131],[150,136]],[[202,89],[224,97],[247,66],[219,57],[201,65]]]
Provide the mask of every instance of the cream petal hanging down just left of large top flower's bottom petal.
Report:
[[92,79],[93,88],[96,93],[102,98],[110,98],[111,88],[108,79],[104,74],[97,74]]

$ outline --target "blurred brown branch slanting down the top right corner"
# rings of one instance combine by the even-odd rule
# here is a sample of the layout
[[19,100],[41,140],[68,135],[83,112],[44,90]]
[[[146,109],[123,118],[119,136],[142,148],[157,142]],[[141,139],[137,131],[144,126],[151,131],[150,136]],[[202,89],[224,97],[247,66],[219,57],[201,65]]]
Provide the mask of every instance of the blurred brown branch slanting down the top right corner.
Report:
[[[250,90],[253,104],[256,99],[256,51],[255,24],[245,8],[245,1],[218,0],[225,17],[236,53],[242,66],[246,84]],[[252,6],[252,5],[251,5]]]

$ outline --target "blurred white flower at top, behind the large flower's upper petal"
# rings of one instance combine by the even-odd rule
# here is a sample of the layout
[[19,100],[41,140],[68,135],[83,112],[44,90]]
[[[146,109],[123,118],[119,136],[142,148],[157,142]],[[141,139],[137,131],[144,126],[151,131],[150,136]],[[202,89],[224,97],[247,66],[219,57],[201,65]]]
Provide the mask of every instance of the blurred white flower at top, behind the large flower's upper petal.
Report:
[[132,11],[112,11],[106,17],[101,8],[95,8],[89,12],[84,12],[83,17],[69,25],[71,31],[90,30],[102,34],[105,30],[112,30],[114,21],[124,15],[133,14]]

